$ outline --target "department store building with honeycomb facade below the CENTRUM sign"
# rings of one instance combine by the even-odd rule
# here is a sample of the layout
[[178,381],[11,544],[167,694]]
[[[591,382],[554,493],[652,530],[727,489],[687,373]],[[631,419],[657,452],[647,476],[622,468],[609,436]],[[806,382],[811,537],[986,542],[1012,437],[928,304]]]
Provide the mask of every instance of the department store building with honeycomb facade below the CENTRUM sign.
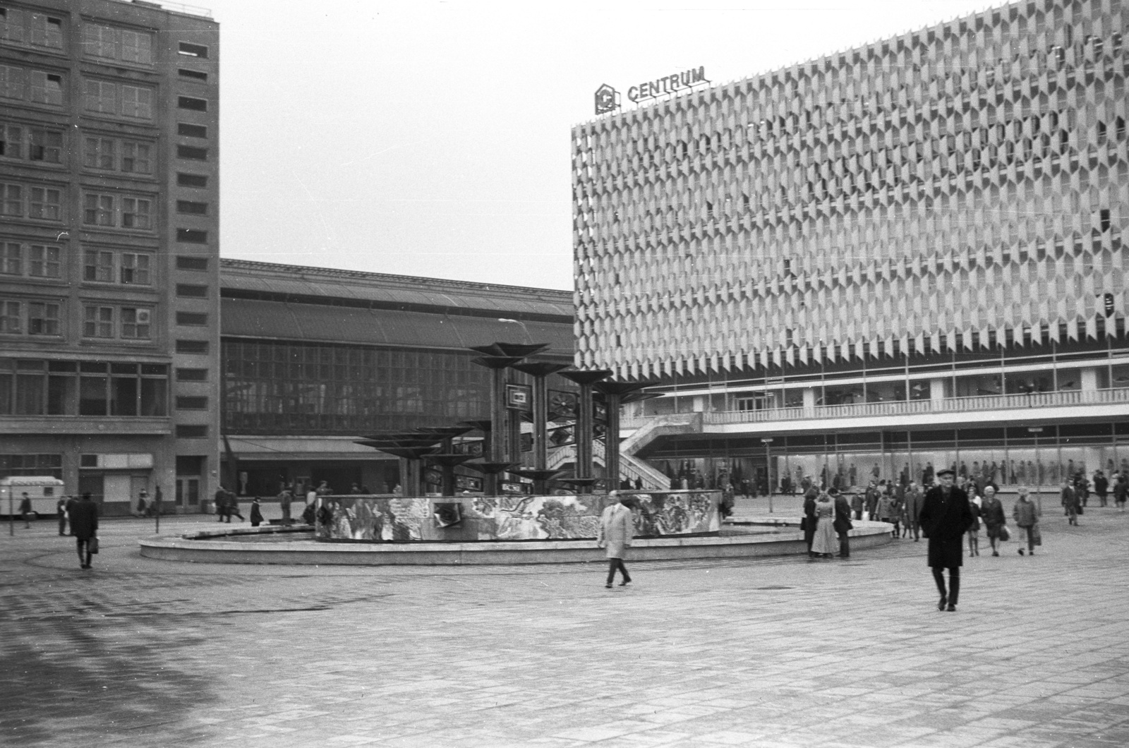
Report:
[[1023,0],[572,132],[625,451],[767,487],[1129,470],[1129,5]]

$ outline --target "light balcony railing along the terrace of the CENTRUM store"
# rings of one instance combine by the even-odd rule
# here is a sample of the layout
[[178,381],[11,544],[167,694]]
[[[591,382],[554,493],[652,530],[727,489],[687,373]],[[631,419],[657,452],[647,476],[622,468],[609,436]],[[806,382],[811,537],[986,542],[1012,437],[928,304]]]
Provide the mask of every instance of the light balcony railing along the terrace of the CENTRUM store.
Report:
[[[978,410],[1026,410],[1062,406],[1099,406],[1129,403],[1129,389],[1070,390],[1067,392],[1033,392],[1031,394],[991,394],[944,400],[904,400],[896,402],[859,402],[849,406],[814,408],[771,408],[765,410],[721,410],[703,412],[706,424],[763,424],[782,420],[824,418],[867,418],[876,416],[913,416],[921,414],[970,412]],[[685,414],[690,415],[690,414]],[[623,428],[639,428],[658,416],[621,419]],[[669,417],[669,416],[664,416]]]

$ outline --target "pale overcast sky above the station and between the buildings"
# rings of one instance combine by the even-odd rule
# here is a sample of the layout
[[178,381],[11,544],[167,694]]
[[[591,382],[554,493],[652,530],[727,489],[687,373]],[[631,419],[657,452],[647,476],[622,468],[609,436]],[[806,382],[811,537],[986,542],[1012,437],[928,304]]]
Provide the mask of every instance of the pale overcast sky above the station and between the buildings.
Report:
[[601,84],[724,84],[1001,5],[196,1],[224,256],[567,289],[569,134]]

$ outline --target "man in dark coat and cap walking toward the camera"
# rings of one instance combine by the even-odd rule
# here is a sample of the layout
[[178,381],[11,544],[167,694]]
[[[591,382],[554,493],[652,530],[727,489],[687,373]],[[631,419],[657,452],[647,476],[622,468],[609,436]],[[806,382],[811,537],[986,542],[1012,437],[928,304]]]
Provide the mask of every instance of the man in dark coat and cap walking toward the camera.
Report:
[[[969,495],[953,486],[954,472],[938,470],[939,486],[926,493],[919,521],[925,537],[929,539],[928,563],[933,579],[940,592],[938,610],[956,610],[961,593],[961,566],[964,564],[963,538],[972,524]],[[948,569],[948,591],[945,591],[945,569]]]

